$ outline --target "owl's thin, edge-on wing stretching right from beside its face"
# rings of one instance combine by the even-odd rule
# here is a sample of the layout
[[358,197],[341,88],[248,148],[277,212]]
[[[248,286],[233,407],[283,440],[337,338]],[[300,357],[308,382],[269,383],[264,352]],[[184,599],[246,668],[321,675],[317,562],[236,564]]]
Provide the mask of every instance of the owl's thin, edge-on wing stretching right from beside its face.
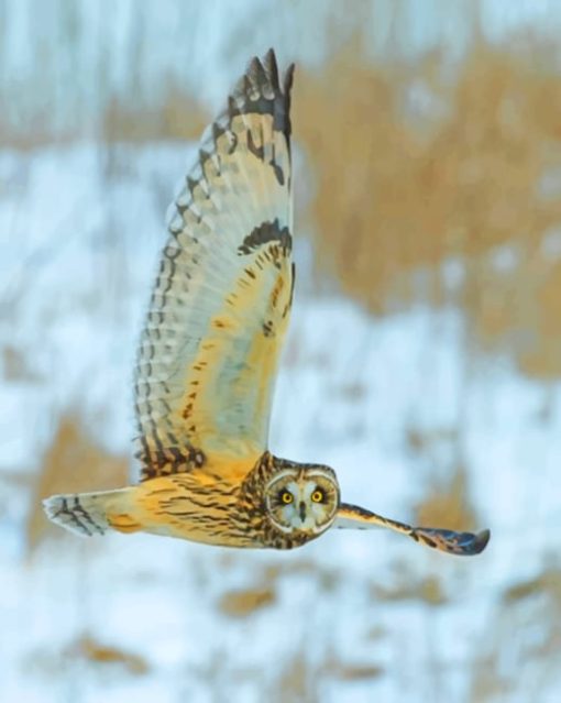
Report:
[[342,529],[387,527],[396,532],[411,537],[416,542],[432,547],[432,549],[462,557],[472,557],[482,552],[491,537],[488,529],[473,535],[472,532],[455,532],[437,527],[411,527],[405,523],[391,520],[387,517],[382,517],[382,515],[365,510],[358,505],[349,505],[346,503],[340,505],[334,527]]

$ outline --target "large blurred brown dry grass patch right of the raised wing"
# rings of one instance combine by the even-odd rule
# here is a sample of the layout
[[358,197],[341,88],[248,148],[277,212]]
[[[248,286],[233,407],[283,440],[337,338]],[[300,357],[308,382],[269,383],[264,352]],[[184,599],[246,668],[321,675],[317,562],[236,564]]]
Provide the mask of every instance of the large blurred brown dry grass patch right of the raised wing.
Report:
[[[345,293],[375,312],[454,303],[483,345],[551,377],[561,267],[543,242],[561,223],[561,84],[544,68],[553,50],[530,45],[479,40],[452,80],[437,55],[374,67],[353,45],[300,76],[295,128],[318,180],[318,256]],[[452,256],[455,289],[441,275]]]

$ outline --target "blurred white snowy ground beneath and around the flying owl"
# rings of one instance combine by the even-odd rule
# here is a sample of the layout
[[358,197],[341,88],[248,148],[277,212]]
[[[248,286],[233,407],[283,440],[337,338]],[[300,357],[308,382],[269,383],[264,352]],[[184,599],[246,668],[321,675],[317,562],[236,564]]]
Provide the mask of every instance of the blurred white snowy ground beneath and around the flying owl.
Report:
[[134,342],[186,151],[0,152],[0,700],[560,700],[561,394],[499,359],[466,382],[453,311],[374,320],[297,285],[272,449],[409,519],[460,431],[466,499],[493,531],[481,557],[383,531],[292,553],[61,534],[26,556],[58,418],[128,452]]

